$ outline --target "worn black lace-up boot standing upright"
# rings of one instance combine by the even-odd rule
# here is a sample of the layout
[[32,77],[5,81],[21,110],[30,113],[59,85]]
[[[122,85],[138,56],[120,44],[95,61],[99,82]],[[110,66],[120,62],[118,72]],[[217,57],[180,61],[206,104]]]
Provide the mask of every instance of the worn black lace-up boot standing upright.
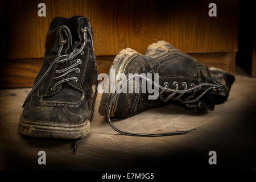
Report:
[[18,132],[31,137],[76,139],[90,133],[97,77],[93,32],[86,17],[52,20],[44,63],[28,94]]

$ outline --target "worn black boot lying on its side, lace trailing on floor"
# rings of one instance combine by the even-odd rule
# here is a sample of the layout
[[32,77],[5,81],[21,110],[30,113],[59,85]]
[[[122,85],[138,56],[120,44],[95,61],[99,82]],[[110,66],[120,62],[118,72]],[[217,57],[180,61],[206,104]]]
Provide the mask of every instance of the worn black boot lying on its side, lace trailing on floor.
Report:
[[[149,100],[149,93],[142,93],[142,89],[139,93],[102,94],[99,113],[106,115],[113,129],[126,135],[163,136],[187,133],[188,131],[165,134],[129,133],[117,129],[110,121],[110,117],[130,117],[170,102],[195,109],[196,112],[201,109],[213,110],[215,104],[227,100],[234,82],[234,76],[230,73],[200,64],[193,57],[163,41],[148,46],[146,55],[141,55],[130,48],[123,49],[115,57],[111,68],[115,69],[115,74],[124,73],[126,76],[129,73],[158,74],[158,83],[152,78],[150,80],[148,77],[140,77],[142,80],[151,81],[152,85],[159,88],[159,97],[156,100]],[[122,86],[127,85],[128,80],[122,82]],[[121,79],[117,78],[115,85],[120,81]],[[141,82],[134,82],[132,86],[141,87]]]

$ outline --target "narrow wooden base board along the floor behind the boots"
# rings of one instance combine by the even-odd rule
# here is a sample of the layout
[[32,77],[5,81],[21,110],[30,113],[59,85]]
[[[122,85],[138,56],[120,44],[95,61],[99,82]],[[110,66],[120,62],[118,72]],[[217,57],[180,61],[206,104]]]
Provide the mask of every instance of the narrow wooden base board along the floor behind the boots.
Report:
[[[211,67],[221,68],[234,74],[236,53],[193,53],[190,54]],[[98,73],[108,73],[114,56],[97,56]],[[32,87],[43,59],[17,59],[0,61],[0,88]]]

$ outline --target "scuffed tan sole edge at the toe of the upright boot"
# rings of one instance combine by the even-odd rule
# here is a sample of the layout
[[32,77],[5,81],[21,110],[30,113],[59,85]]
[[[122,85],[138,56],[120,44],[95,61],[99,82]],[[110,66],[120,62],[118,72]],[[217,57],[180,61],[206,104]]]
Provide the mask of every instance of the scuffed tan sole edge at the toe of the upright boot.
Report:
[[86,120],[79,125],[64,125],[57,123],[27,121],[20,116],[18,133],[29,137],[77,139],[89,135],[90,122]]

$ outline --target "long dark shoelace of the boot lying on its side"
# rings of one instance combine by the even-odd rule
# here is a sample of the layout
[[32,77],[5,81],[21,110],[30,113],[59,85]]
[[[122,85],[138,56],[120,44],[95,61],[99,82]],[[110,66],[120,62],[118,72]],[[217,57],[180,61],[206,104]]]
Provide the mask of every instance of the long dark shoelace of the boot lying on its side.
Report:
[[[174,82],[174,85],[176,85],[176,89],[170,89],[170,88],[167,88],[168,87],[168,83],[164,83],[164,86],[161,86],[159,84],[157,84],[156,82],[148,79],[146,76],[143,76],[143,75],[134,75],[132,77],[130,77],[129,79],[127,79],[122,85],[121,87],[119,88],[119,90],[114,94],[112,100],[110,101],[110,104],[108,106],[108,110],[107,110],[107,115],[106,115],[106,118],[109,122],[109,125],[115,130],[117,131],[118,133],[121,133],[121,134],[124,134],[124,135],[129,135],[129,136],[135,136],[135,137],[163,137],[163,136],[170,136],[170,135],[182,135],[182,134],[187,134],[189,133],[190,131],[193,131],[195,129],[191,129],[191,130],[186,130],[186,131],[175,131],[175,132],[171,132],[171,133],[156,133],[156,134],[148,134],[148,133],[130,133],[130,132],[127,132],[127,131],[122,131],[122,130],[119,130],[117,129],[117,127],[115,127],[110,119],[110,110],[112,108],[112,105],[113,105],[113,102],[115,100],[115,98],[117,97],[117,95],[121,92],[123,86],[125,86],[127,84],[127,82],[131,79],[133,79],[134,77],[141,77],[143,79],[145,79],[146,81],[149,81],[151,82],[151,84],[154,84],[155,86],[158,86],[158,88],[161,89],[161,91],[159,92],[159,95],[162,94],[164,91],[167,91],[167,92],[171,92],[171,94],[167,97],[167,98],[163,98],[162,96],[160,96],[161,100],[163,100],[164,102],[167,102],[168,100],[170,100],[171,98],[173,100],[179,100],[180,102],[183,102],[185,104],[189,104],[189,103],[193,103],[193,102],[196,102],[198,101],[201,97],[204,96],[205,93],[207,93],[210,89],[216,89],[218,88],[219,86],[218,85],[214,85],[214,84],[208,84],[208,83],[201,83],[199,85],[196,85],[196,86],[193,86],[193,88],[190,88],[190,89],[187,89],[187,83],[186,82],[183,82],[183,86],[184,86],[184,90],[178,90],[178,85],[177,85],[177,82]],[[183,101],[180,99],[181,96],[183,96],[184,93],[188,93],[188,92],[191,92],[193,90],[196,90],[198,88],[200,88],[201,86],[209,86],[208,89],[206,89],[203,93],[200,94],[200,96],[196,97],[195,99],[193,100],[186,100],[186,101]],[[176,93],[180,93],[177,97],[174,98],[174,95]]]

